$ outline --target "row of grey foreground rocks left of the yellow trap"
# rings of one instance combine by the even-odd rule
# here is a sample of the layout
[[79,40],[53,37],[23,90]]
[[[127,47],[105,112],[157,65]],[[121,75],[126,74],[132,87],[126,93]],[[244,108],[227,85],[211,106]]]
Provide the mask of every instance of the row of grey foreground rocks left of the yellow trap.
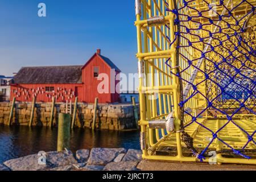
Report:
[[137,171],[141,155],[140,150],[125,148],[53,151],[8,160],[0,164],[0,171]]

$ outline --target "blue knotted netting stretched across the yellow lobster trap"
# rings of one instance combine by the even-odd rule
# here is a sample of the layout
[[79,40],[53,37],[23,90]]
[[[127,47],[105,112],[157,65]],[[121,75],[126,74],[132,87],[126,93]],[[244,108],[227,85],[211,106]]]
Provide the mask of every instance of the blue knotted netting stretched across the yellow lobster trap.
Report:
[[[179,78],[181,85],[192,85],[192,92],[186,98],[180,99],[179,106],[184,110],[184,105],[198,95],[207,101],[205,109],[202,109],[197,115],[187,113],[191,116],[192,121],[184,126],[185,128],[192,123],[197,123],[212,133],[213,138],[208,146],[197,155],[201,161],[204,159],[205,151],[216,139],[230,148],[234,154],[250,159],[250,156],[242,154],[240,150],[235,149],[218,137],[218,133],[229,123],[233,123],[247,135],[248,140],[242,149],[245,149],[250,142],[256,144],[253,139],[256,130],[250,135],[233,120],[237,114],[256,115],[256,50],[255,33],[252,33],[256,30],[255,24],[250,25],[250,19],[255,15],[255,6],[246,0],[236,1],[234,5],[230,5],[229,2],[218,1],[215,3],[216,9],[214,9],[212,3],[203,0],[202,3],[207,5],[208,8],[198,10],[196,9],[197,6],[194,6],[197,1],[192,0],[183,1],[182,5],[177,4],[176,9],[166,9],[166,11],[174,13],[176,17],[174,21],[177,27],[175,39],[171,42],[171,39],[167,36],[167,39],[170,40],[170,47],[176,43],[178,50],[177,62],[179,62],[179,59],[184,59],[188,63],[186,66],[180,66],[177,73],[172,71],[171,58],[166,61],[166,64],[171,68],[171,74]],[[241,11],[240,7],[246,7],[248,11]],[[222,14],[220,10],[225,13]],[[215,15],[207,16],[210,11]],[[234,15],[236,11],[245,13]],[[191,28],[188,24],[196,26]],[[210,26],[213,26],[215,31],[210,31]],[[166,27],[170,28],[167,24]],[[185,44],[179,43],[181,39],[185,40]],[[210,39],[212,40],[210,41]],[[203,44],[203,46],[200,47],[199,44]],[[204,50],[207,45],[209,48]],[[193,59],[181,53],[179,49],[192,49]],[[201,59],[205,64],[204,70],[201,66],[197,66]],[[200,82],[189,82],[184,77],[184,73],[189,68],[197,69],[201,75],[204,75],[204,79]],[[206,95],[198,89],[200,84],[206,85]],[[228,122],[217,131],[212,131],[197,122],[197,119],[201,118],[206,111],[213,117],[220,114],[225,115]]]

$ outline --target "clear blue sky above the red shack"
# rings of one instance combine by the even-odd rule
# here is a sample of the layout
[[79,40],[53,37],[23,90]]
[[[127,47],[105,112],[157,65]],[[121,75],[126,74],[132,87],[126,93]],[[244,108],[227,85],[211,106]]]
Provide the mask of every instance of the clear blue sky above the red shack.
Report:
[[[47,17],[39,18],[38,4]],[[137,72],[132,0],[0,0],[0,75],[24,66],[82,65],[101,48],[123,73]]]

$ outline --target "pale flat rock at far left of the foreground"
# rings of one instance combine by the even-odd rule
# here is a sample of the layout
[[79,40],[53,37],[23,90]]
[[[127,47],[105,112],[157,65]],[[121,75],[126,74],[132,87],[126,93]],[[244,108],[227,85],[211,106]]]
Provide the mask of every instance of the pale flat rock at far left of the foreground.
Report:
[[38,171],[46,169],[46,165],[38,163],[39,157],[37,154],[28,155],[18,159],[7,160],[3,164],[12,171]]

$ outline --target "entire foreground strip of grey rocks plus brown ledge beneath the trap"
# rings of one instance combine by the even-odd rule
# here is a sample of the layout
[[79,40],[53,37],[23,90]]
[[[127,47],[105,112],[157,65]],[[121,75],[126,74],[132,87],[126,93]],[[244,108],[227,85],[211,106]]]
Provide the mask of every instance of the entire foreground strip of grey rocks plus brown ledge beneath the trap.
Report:
[[[0,164],[0,171],[256,171],[255,165],[179,163],[142,160],[140,150],[93,148],[92,150],[46,152]],[[42,163],[45,162],[45,163]]]

